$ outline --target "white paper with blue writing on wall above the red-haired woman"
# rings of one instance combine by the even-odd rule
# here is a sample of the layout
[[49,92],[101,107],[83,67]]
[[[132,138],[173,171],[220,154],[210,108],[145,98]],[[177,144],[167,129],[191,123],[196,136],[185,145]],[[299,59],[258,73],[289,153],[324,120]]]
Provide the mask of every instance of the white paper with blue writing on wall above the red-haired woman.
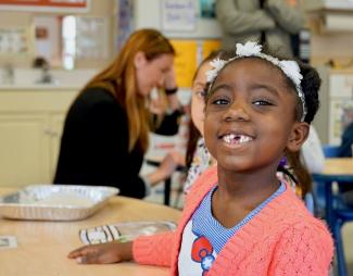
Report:
[[194,30],[196,5],[193,0],[162,0],[162,28],[164,30]]

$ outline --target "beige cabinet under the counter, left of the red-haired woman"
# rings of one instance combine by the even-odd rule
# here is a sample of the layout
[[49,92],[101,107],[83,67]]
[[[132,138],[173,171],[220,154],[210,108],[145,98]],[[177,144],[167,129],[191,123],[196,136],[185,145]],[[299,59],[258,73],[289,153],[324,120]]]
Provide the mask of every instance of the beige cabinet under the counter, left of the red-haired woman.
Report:
[[76,91],[0,91],[0,186],[50,184]]

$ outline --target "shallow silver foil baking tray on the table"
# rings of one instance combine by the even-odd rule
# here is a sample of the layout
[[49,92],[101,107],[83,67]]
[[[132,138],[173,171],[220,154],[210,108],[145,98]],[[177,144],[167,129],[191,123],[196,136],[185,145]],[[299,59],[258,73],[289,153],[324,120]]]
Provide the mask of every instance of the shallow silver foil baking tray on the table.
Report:
[[118,189],[105,186],[30,185],[0,197],[0,216],[15,219],[78,221],[92,215]]

